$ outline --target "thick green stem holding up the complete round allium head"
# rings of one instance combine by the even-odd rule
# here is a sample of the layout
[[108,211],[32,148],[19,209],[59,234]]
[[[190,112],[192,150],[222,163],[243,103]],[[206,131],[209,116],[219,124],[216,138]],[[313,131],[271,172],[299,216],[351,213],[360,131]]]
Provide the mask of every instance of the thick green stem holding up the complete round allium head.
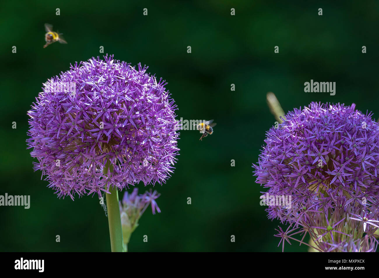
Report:
[[[108,174],[108,169],[113,172],[113,166],[109,161],[106,162],[103,169],[103,174]],[[124,241],[122,240],[122,228],[121,228],[121,217],[120,217],[120,206],[118,199],[117,187],[113,186],[109,188],[109,193],[105,193],[106,196],[106,208],[108,210],[108,223],[109,223],[109,234],[111,237],[111,250],[112,252],[123,252],[124,251]]]

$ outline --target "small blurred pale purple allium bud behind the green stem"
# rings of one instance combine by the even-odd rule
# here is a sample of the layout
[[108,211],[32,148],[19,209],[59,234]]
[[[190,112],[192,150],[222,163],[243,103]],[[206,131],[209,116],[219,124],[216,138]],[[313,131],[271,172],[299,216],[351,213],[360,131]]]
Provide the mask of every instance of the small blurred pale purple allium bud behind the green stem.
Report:
[[125,192],[122,202],[120,201],[120,214],[121,214],[121,226],[122,236],[124,238],[125,250],[127,250],[127,244],[129,243],[130,236],[133,231],[138,227],[138,220],[145,212],[146,208],[151,205],[152,213],[155,214],[155,210],[158,213],[161,212],[160,208],[155,201],[160,194],[155,190],[152,192],[145,192],[138,195],[138,188],[135,188],[132,194]]

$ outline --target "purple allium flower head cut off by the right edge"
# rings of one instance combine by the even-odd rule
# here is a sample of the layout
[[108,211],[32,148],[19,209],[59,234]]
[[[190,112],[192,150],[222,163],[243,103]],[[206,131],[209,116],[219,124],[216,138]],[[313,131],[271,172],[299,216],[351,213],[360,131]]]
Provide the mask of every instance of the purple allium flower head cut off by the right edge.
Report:
[[[348,251],[363,242],[358,251],[376,250],[379,125],[371,116],[355,104],[311,103],[268,130],[253,168],[269,196],[291,196],[291,206],[266,209],[269,219],[290,225],[278,230],[283,244],[302,233],[318,251]],[[362,210],[369,217],[358,216]]]

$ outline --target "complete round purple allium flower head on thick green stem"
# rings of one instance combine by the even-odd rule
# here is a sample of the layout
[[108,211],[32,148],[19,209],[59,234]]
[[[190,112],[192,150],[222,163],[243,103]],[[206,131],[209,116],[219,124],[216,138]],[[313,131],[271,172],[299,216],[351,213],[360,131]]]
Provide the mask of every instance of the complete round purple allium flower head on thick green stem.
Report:
[[136,69],[113,55],[104,59],[92,57],[52,77],[50,84],[75,90],[45,84],[28,111],[34,170],[42,170],[58,197],[100,197],[110,185],[122,189],[140,181],[162,184],[174,169],[177,106],[167,83],[141,64]]

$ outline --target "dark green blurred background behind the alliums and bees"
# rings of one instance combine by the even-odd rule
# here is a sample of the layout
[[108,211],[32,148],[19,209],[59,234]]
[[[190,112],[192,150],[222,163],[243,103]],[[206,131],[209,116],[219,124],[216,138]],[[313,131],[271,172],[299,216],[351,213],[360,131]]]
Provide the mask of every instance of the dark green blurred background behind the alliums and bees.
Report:
[[[115,59],[141,62],[166,79],[178,119],[217,123],[203,141],[199,132],[182,130],[176,170],[155,186],[162,213],[145,212],[128,250],[280,252],[273,236],[279,222],[259,205],[262,188],[251,168],[275,121],[266,93],[274,92],[285,112],[311,101],[354,102],[377,118],[378,14],[377,1],[2,1],[0,195],[30,195],[31,207],[0,207],[0,251],[110,251],[98,198],[57,199],[33,172],[25,143],[27,111],[42,82],[70,63],[102,56],[104,46]],[[42,48],[44,23],[68,44]],[[335,96],[304,93],[310,79],[336,82]],[[149,187],[140,184],[140,193]],[[285,248],[306,250],[295,242]]]

